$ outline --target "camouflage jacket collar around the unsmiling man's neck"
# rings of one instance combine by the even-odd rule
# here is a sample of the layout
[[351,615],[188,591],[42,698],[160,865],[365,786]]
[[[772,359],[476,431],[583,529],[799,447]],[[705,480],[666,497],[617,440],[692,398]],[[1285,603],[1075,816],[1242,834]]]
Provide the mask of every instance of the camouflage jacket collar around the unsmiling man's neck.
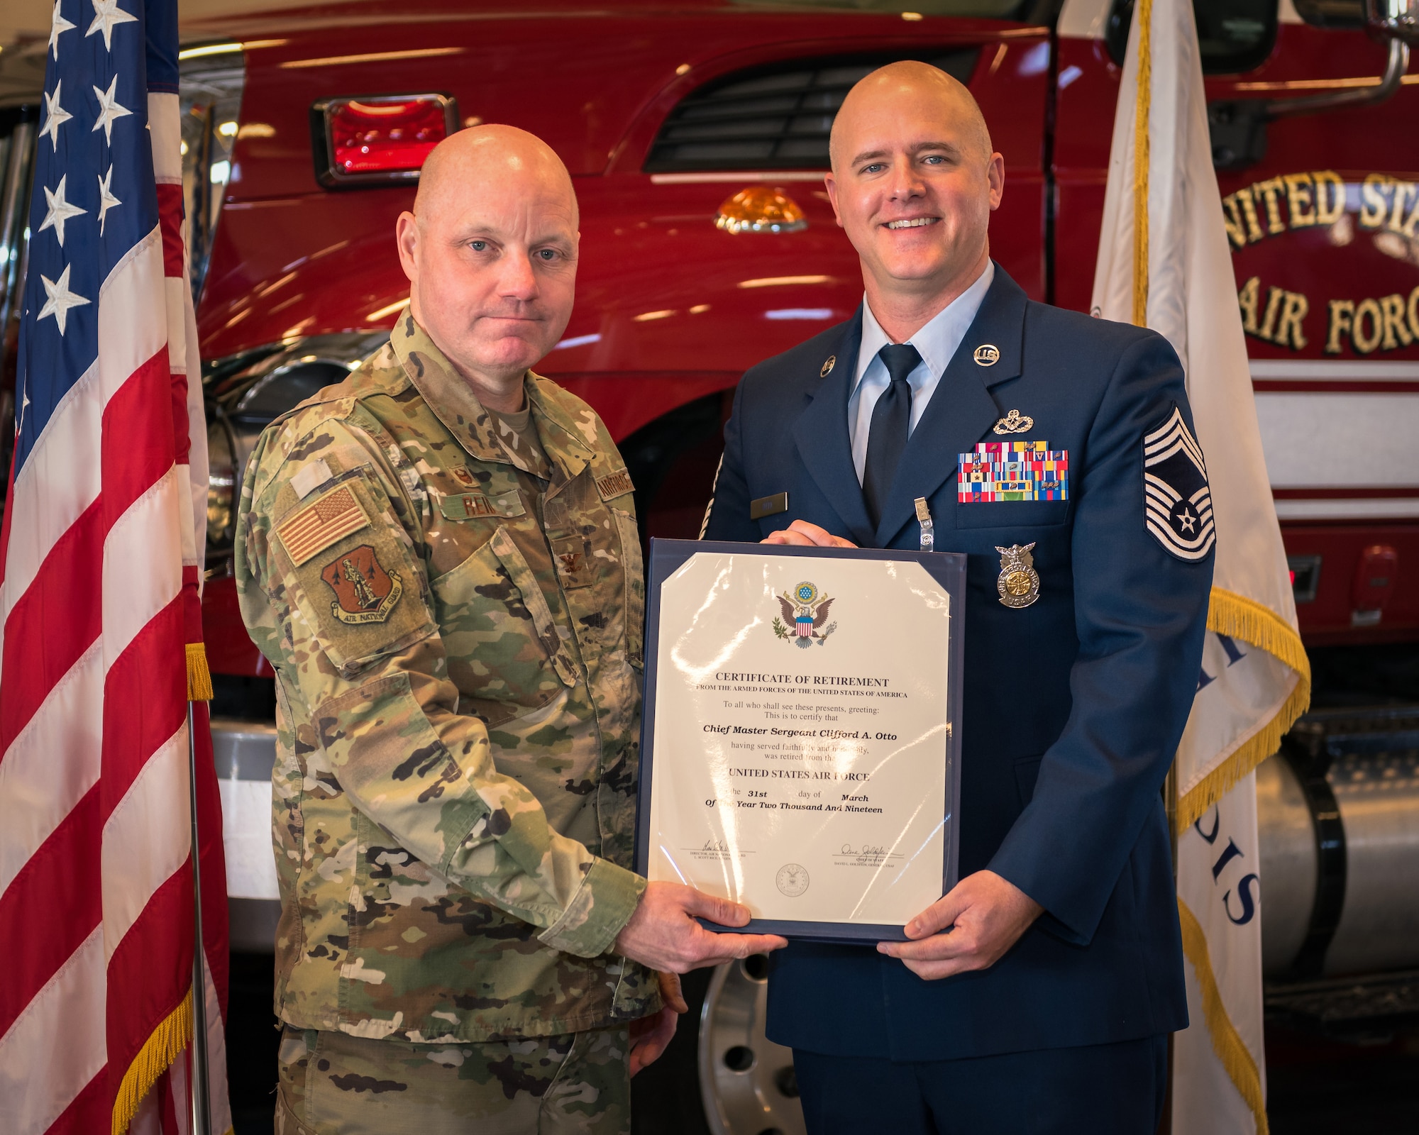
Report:
[[[470,455],[480,461],[517,465],[525,472],[532,472],[519,455],[509,454],[502,447],[492,414],[484,409],[478,396],[473,393],[473,387],[434,345],[429,333],[414,322],[414,316],[407,309],[394,323],[389,343],[409,380],[429,403],[429,409]],[[528,404],[532,407],[532,420],[551,427],[538,430],[543,453],[553,465],[566,474],[568,480],[576,477],[586,468],[593,450],[583,443],[578,424],[566,416],[555,400],[545,397],[538,389],[536,375],[529,370],[522,382]]]

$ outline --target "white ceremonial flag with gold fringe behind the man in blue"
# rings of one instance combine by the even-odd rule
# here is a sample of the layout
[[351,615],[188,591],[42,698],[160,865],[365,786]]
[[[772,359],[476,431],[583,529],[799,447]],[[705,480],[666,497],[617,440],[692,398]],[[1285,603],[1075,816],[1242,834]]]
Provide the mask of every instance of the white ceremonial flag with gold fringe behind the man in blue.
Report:
[[1202,674],[1178,748],[1178,914],[1191,1027],[1174,1135],[1266,1132],[1256,766],[1310,701],[1212,169],[1189,0],[1139,0],[1114,116],[1093,314],[1182,360],[1216,525]]

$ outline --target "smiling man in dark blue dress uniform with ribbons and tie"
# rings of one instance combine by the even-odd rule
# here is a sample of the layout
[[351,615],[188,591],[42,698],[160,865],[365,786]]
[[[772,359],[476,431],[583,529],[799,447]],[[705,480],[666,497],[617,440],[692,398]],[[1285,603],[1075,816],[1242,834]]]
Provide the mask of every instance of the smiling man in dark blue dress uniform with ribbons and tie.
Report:
[[1183,375],[990,261],[1003,160],[941,71],[853,88],[832,170],[866,299],[744,376],[705,535],[915,549],[929,519],[966,553],[961,882],[912,941],[775,955],[768,1034],[810,1135],[1152,1135],[1186,1024],[1159,789],[1212,582]]

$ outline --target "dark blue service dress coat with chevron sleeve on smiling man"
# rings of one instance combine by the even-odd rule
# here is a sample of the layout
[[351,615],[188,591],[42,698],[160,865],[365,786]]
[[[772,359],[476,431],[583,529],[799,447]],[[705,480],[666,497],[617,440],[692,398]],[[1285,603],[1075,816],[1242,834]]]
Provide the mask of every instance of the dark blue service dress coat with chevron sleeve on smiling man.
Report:
[[[961,875],[989,868],[1044,915],[990,969],[935,982],[871,948],[793,942],[772,955],[768,1034],[954,1060],[1183,1029],[1161,787],[1200,672],[1212,535],[1178,358],[1154,332],[1032,302],[996,265],[873,531],[847,433],[860,335],[857,315],[744,376],[705,538],[802,518],[915,549],[927,498],[937,550],[968,556]],[[958,502],[959,454],[1040,440],[1069,453],[1066,499]],[[786,512],[751,519],[780,492]],[[1039,573],[1017,609],[998,589],[1013,545]]]

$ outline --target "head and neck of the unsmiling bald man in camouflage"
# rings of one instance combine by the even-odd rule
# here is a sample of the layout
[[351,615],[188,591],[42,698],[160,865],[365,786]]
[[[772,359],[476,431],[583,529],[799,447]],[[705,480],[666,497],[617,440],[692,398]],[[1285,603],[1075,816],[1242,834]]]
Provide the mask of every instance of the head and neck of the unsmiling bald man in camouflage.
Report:
[[521,406],[522,376],[566,331],[578,224],[566,166],[526,131],[474,126],[424,160],[396,233],[409,311],[492,410]]

